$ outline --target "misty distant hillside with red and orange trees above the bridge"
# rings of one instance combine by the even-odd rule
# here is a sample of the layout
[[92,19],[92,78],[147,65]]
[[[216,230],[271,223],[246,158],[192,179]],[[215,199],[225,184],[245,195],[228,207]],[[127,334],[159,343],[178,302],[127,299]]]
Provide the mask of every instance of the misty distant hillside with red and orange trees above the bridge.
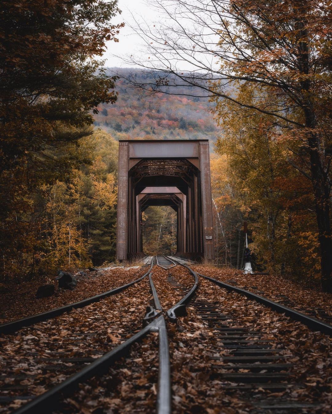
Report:
[[[135,77],[136,82],[153,82],[152,73],[142,70],[109,69],[107,73],[119,74],[116,105],[101,103],[99,113],[94,116],[95,126],[109,132],[116,140],[176,140],[208,139],[216,141],[219,129],[209,111],[213,103],[199,97],[199,89],[184,87],[167,94],[152,94],[134,87],[126,77]],[[122,77],[121,77],[122,76]],[[192,89],[192,88],[191,88]],[[177,93],[173,95],[172,93]],[[183,94],[183,95],[182,95]]]

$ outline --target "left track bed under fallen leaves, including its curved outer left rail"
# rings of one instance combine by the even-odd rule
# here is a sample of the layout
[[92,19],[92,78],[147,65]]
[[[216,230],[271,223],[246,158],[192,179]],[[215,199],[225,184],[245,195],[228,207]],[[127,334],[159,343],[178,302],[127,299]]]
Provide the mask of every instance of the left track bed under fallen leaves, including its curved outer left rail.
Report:
[[[32,400],[35,393],[96,361],[114,347],[112,342],[131,337],[141,320],[139,315],[136,320],[132,318],[135,309],[131,309],[124,292],[132,289],[135,294],[152,266],[153,260],[145,266],[147,272],[142,277],[111,291],[0,325],[0,412],[6,412],[6,407],[15,400]],[[143,312],[148,301],[148,282],[142,286],[143,294],[144,289]],[[116,303],[115,297],[119,296],[122,302]],[[118,330],[122,328],[119,338],[114,337],[112,326],[99,328],[112,317]],[[122,318],[128,322],[134,320],[126,325]]]

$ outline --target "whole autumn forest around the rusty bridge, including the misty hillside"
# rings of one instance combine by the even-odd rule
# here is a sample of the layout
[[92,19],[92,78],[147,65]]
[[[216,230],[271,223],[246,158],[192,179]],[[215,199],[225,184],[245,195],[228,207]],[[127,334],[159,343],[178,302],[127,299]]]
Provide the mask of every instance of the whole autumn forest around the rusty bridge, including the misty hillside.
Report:
[[[303,29],[301,3],[293,11],[285,3],[269,17],[269,43],[247,34],[238,46],[252,45],[249,66],[233,57],[211,79],[182,73],[181,89],[176,78],[153,89],[153,67],[121,72],[97,60],[121,30],[108,23],[116,2],[37,3],[1,5],[2,280],[114,261],[119,139],[207,138],[216,263],[241,268],[247,221],[257,270],[305,285],[322,274],[331,289],[329,5],[310,2]],[[248,2],[234,7],[236,16],[251,13]],[[298,28],[277,40],[294,13]],[[239,18],[237,30],[248,25]],[[146,246],[165,239],[160,253],[176,249],[170,214],[143,217]]]

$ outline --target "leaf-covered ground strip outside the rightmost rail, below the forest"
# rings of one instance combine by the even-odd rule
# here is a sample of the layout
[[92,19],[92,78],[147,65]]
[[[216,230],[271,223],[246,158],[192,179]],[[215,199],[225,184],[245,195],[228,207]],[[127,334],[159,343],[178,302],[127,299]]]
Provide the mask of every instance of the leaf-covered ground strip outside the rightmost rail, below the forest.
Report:
[[[281,276],[259,275],[259,274],[243,274],[239,270],[234,269],[217,269],[208,266],[192,266],[196,272],[204,274],[221,282],[232,284],[236,282],[237,287],[241,287],[265,296],[275,302],[284,303],[286,306],[296,308],[302,312],[310,310],[310,315],[316,318],[325,319],[324,315],[317,310],[321,308],[329,317],[332,317],[332,294],[323,293],[313,289],[303,289],[300,284],[296,284]],[[285,301],[284,295],[290,299]],[[332,323],[332,321],[328,321]]]

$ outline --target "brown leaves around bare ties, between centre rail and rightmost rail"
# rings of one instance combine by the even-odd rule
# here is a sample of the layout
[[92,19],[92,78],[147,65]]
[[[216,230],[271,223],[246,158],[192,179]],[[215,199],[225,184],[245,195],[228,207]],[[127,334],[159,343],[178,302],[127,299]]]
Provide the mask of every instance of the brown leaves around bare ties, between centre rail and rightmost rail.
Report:
[[[176,269],[176,268],[174,268]],[[301,402],[320,402],[318,412],[329,412],[332,404],[332,343],[329,337],[310,331],[299,322],[265,308],[236,293],[200,278],[196,300],[216,304],[218,310],[229,315],[233,321],[228,326],[244,326],[263,332],[262,339],[271,347],[284,349],[286,362],[294,363],[291,378],[301,383],[298,390],[272,395],[262,392],[262,399],[286,398]],[[251,398],[240,391],[225,390],[225,381],[216,379],[211,356],[223,356],[229,349],[216,338],[213,328],[208,327],[197,314],[194,301],[187,307],[188,315],[179,321],[172,332],[172,381],[174,412],[177,413],[244,413],[252,410]],[[190,363],[189,363],[190,361]],[[227,363],[225,361],[225,363]],[[218,361],[218,371],[223,372],[223,360]],[[226,371],[225,371],[226,372]],[[227,372],[230,372],[229,370]],[[233,383],[232,385],[236,385]],[[311,412],[315,412],[312,409]]]

